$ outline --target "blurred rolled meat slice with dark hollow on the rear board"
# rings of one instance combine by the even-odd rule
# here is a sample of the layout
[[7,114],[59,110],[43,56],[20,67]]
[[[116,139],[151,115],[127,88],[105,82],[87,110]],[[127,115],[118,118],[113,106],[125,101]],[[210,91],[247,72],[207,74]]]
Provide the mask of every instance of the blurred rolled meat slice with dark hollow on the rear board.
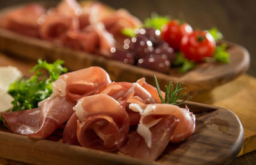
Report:
[[77,29],[79,29],[77,17],[50,13],[44,18],[39,32],[43,39],[57,44],[64,44],[67,42],[67,32],[76,31]]

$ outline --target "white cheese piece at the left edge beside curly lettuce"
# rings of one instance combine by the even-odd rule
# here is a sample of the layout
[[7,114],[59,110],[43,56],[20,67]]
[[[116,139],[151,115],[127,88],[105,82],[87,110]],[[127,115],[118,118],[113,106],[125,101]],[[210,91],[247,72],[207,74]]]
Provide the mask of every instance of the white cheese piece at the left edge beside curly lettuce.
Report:
[[4,91],[7,91],[9,89],[9,85],[20,78],[22,78],[22,73],[19,69],[13,66],[0,67],[0,88]]

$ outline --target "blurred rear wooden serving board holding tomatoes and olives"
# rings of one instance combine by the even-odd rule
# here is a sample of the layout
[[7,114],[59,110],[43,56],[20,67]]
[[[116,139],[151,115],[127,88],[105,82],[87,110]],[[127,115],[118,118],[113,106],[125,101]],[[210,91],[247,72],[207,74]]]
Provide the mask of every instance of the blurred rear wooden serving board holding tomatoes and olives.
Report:
[[[0,20],[3,15],[12,11],[15,7],[6,8],[0,11]],[[230,63],[204,62],[198,64],[195,69],[188,73],[179,73],[179,68],[170,69],[170,73],[163,74],[137,66],[124,64],[119,61],[106,59],[98,55],[70,50],[53,45],[42,39],[22,36],[15,32],[0,28],[0,50],[8,54],[15,54],[26,59],[46,59],[49,62],[62,59],[70,71],[88,66],[100,66],[109,73],[112,80],[121,82],[135,82],[145,77],[147,82],[154,85],[153,76],[156,75],[161,87],[169,82],[184,82],[189,95],[200,90],[212,89],[217,85],[229,82],[244,73],[250,65],[250,55],[240,45],[225,42],[228,45],[227,52],[230,53]]]

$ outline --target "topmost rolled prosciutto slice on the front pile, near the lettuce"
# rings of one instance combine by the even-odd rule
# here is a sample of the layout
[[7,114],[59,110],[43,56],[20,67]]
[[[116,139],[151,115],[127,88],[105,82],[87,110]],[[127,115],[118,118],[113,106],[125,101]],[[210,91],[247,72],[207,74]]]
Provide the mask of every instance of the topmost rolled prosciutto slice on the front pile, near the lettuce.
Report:
[[80,69],[61,75],[52,83],[53,95],[60,94],[77,101],[84,96],[98,93],[97,91],[111,83],[108,73],[100,67]]

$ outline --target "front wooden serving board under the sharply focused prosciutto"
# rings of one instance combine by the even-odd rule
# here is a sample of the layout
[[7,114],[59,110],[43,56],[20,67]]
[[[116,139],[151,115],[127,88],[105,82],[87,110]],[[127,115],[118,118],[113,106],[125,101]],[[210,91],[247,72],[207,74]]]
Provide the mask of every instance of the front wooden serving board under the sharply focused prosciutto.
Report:
[[232,161],[241,150],[244,137],[237,116],[225,108],[186,104],[196,114],[195,133],[182,143],[169,144],[156,162],[32,139],[3,128],[0,129],[0,157],[32,164],[225,164]]

